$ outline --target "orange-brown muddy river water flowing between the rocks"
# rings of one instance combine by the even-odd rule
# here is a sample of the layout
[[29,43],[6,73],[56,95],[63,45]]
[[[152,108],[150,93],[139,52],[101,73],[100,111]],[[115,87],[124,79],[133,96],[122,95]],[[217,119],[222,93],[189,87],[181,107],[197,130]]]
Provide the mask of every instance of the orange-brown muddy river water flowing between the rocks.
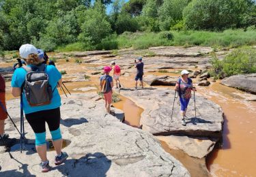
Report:
[[[58,60],[59,61],[59,60]],[[67,65],[68,64],[68,65]],[[12,63],[0,63],[0,67],[12,66]],[[75,68],[74,68],[75,66]],[[58,62],[58,69],[65,69],[68,74],[85,72],[85,67],[96,67],[98,65],[81,64],[76,65],[74,62],[66,63],[61,60]],[[146,73],[146,75],[155,73]],[[177,76],[174,73],[157,73],[157,75]],[[99,76],[91,77],[91,81],[85,82],[66,82],[70,92],[84,92],[75,90],[83,87],[98,87]],[[126,87],[134,86],[134,75],[122,76],[122,84]],[[65,80],[65,79],[64,79]],[[132,84],[131,84],[132,83]],[[10,94],[10,82],[6,83],[6,99],[12,99]],[[198,86],[198,95],[203,95],[214,101],[223,108],[225,112],[225,124],[223,131],[223,146],[215,149],[206,159],[208,170],[212,176],[256,176],[256,101],[246,101],[236,93],[243,93],[235,88],[223,86],[218,82],[210,84],[208,87]],[[95,90],[90,90],[94,91]],[[59,93],[63,94],[61,91]],[[126,124],[132,127],[139,127],[139,120],[143,109],[139,108],[130,99],[120,96],[122,101],[113,103],[116,108],[124,110]],[[190,170],[192,176],[197,176],[197,171],[193,170],[195,159],[190,159],[182,155],[182,152],[170,150],[162,142],[163,148],[173,157],[180,161]],[[199,161],[198,164],[201,164]]]

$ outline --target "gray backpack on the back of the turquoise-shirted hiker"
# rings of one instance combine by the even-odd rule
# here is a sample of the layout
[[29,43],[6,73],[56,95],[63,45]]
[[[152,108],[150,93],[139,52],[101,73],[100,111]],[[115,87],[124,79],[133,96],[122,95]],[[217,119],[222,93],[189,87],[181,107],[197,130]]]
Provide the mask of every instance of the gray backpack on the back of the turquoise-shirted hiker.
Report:
[[46,64],[37,67],[23,66],[23,69],[27,71],[23,90],[30,106],[43,106],[51,103],[55,88],[52,91],[48,74],[44,72],[46,66]]

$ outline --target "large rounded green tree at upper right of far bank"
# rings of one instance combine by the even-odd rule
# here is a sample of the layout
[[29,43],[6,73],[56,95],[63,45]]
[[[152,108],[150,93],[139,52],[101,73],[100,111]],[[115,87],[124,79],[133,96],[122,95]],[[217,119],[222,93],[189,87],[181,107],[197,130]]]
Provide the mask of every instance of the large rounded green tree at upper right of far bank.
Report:
[[248,10],[246,0],[193,0],[183,11],[188,29],[223,30],[240,26]]

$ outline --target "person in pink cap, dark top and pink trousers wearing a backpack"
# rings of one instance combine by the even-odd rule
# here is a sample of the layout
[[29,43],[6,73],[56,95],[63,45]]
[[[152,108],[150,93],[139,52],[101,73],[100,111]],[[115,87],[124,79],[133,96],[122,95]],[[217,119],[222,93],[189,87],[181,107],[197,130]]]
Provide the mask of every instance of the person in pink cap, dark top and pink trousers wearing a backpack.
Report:
[[100,76],[100,91],[104,95],[106,112],[112,114],[113,112],[110,111],[110,106],[112,103],[112,93],[113,93],[112,88],[114,84],[113,84],[113,78],[109,75],[112,68],[109,66],[105,66],[103,70],[104,70],[104,75]]

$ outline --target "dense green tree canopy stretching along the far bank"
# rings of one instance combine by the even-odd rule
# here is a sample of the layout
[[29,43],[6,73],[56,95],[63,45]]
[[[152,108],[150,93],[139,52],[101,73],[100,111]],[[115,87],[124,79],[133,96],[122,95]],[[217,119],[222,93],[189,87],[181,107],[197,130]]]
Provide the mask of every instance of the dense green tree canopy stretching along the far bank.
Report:
[[44,50],[76,42],[97,45],[125,31],[255,25],[253,0],[0,0],[0,50],[25,43]]

